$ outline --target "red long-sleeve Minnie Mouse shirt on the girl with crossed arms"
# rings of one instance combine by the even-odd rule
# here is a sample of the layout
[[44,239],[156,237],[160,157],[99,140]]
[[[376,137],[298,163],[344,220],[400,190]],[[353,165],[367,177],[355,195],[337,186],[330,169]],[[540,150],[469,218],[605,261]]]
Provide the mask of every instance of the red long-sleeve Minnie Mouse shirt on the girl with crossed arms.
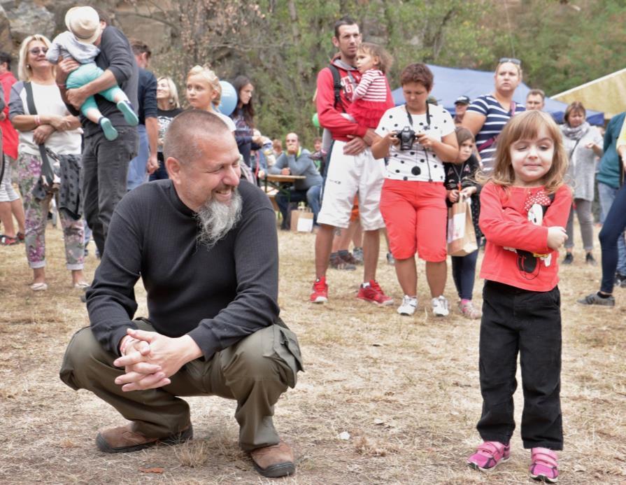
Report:
[[548,227],[565,227],[570,209],[566,185],[552,199],[543,187],[485,184],[479,218],[487,239],[481,278],[524,290],[552,290],[559,282],[559,252],[548,248]]

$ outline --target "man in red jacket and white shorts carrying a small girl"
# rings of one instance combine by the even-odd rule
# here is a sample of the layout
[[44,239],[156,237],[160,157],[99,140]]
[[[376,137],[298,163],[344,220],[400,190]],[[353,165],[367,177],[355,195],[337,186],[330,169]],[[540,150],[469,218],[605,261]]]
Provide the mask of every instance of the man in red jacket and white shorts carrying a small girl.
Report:
[[[310,300],[313,303],[328,301],[326,272],[333,235],[335,228],[348,227],[358,194],[364,274],[357,297],[376,304],[392,304],[392,298],[385,295],[376,282],[380,246],[378,232],[385,227],[379,209],[380,190],[385,180],[384,163],[374,159],[369,150],[377,135],[374,129],[357,125],[344,117],[361,79],[361,73],[355,67],[357,48],[361,43],[357,22],[347,16],[337,20],[332,43],[339,49],[339,54],[330,66],[318,73],[315,98],[320,125],[330,132],[333,142],[328,153],[322,208],[318,216],[320,229],[315,238],[315,282]],[[337,89],[335,77],[341,83]],[[393,106],[391,93],[387,94],[387,105]]]

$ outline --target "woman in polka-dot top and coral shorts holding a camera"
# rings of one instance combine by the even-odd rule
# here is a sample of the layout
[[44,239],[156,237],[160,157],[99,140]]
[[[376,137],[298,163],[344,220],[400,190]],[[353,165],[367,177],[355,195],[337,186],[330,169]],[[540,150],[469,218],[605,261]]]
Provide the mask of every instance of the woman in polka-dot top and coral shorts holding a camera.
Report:
[[446,178],[443,162],[457,160],[459,148],[450,113],[427,104],[433,76],[426,64],[409,64],[400,75],[406,104],[388,109],[376,128],[381,136],[371,146],[374,158],[386,157],[386,175],[380,195],[396,260],[398,281],[404,291],[401,315],[413,315],[418,306],[415,252],[426,261],[426,279],[432,311],[447,316],[446,287]]

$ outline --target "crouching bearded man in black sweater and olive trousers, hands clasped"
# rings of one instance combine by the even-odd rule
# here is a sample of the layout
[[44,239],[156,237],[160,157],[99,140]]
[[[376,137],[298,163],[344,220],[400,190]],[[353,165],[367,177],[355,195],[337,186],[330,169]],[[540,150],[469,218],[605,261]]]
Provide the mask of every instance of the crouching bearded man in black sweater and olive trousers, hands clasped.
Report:
[[[91,325],[72,338],[61,379],[131,421],[101,430],[101,451],[189,440],[189,405],[177,396],[219,395],[237,401],[239,446],[257,471],[292,475],[272,416],[302,363],[278,318],[276,216],[259,188],[239,183],[237,144],[217,116],[178,115],[165,157],[170,179],[141,185],[115,209],[87,292]],[[132,320],[140,276],[149,316]]]

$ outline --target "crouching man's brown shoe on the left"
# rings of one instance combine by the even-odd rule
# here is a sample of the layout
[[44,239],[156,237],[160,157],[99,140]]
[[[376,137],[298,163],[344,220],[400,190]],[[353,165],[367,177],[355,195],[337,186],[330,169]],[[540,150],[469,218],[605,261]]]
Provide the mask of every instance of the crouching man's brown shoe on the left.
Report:
[[132,430],[132,423],[117,428],[101,430],[96,437],[96,446],[105,453],[130,453],[153,447],[155,444],[179,444],[191,440],[194,429],[191,425],[176,435],[165,438],[150,438]]

